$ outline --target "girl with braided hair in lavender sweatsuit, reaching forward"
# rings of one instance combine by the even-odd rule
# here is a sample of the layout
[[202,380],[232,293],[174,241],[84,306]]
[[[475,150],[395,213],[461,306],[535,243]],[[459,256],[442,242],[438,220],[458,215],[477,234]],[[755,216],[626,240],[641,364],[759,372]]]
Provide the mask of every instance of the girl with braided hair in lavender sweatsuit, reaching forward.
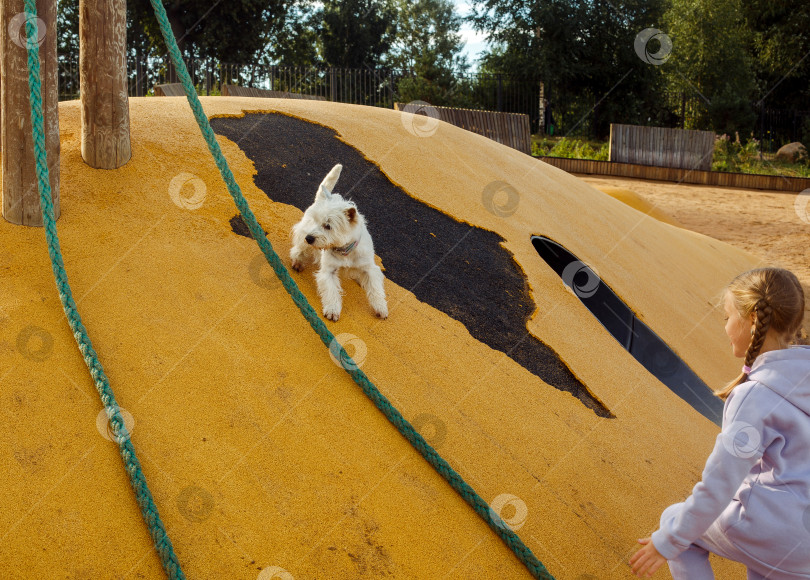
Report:
[[749,580],[810,579],[810,346],[799,342],[804,292],[761,268],[726,289],[726,334],[742,373],[716,395],[723,428],[702,481],[630,559],[636,576],[667,561],[675,580],[712,580],[709,552]]

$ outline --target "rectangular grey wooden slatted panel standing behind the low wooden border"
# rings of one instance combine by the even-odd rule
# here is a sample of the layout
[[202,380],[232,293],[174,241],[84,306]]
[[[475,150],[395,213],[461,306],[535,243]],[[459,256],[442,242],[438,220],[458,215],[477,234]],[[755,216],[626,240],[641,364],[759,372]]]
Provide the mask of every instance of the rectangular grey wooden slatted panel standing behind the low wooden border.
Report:
[[610,125],[609,159],[655,167],[710,171],[714,132]]

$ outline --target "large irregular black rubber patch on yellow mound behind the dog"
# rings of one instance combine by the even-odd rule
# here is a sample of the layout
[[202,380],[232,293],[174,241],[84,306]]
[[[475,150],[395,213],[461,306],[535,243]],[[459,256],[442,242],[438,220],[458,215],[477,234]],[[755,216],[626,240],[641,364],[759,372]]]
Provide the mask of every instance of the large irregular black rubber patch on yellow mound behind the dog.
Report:
[[[341,163],[336,192],[357,203],[366,217],[389,280],[548,384],[573,394],[600,417],[613,417],[557,354],[526,329],[534,302],[523,272],[500,245],[502,237],[409,196],[332,129],[281,114],[215,118],[211,126],[253,161],[259,189],[302,211],[312,204],[329,170]],[[234,232],[244,235],[237,228]],[[452,351],[453,345],[447,345],[447,352]]]

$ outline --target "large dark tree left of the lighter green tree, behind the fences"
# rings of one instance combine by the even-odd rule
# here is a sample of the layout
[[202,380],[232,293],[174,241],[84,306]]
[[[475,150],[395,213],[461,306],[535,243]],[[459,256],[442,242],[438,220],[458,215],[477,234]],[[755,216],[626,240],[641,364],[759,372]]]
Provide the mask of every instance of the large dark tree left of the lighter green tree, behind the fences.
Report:
[[635,52],[664,0],[473,0],[493,48],[482,70],[542,81],[562,131],[605,136],[610,122],[670,124],[660,68]]

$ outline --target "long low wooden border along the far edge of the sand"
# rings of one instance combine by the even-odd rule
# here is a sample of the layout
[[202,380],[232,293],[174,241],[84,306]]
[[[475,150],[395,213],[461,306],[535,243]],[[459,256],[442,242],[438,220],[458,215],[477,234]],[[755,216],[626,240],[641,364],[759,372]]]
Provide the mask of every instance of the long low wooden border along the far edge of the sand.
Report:
[[538,157],[538,159],[549,165],[559,167],[568,173],[634,177],[637,179],[673,181],[676,183],[767,189],[792,193],[810,188],[810,178],[806,177],[753,175],[748,173],[726,173],[724,171],[699,171],[673,167],[651,167],[649,165],[638,165],[634,163],[593,161],[590,159],[565,159],[562,157]]

